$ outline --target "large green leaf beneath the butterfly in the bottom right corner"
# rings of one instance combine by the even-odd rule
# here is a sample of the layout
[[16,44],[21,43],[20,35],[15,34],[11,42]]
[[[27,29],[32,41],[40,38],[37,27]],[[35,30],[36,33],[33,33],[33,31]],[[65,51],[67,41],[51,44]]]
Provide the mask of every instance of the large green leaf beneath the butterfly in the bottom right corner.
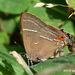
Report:
[[31,66],[32,70],[42,75],[71,75],[75,70],[75,55],[67,55],[55,59],[49,59]]

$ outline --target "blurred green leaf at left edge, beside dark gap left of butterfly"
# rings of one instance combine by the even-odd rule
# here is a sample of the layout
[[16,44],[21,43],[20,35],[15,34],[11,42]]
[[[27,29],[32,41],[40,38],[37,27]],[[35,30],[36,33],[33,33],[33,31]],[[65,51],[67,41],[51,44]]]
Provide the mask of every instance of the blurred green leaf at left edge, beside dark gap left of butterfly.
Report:
[[9,20],[0,19],[0,23],[1,23],[0,27],[2,31],[5,31],[8,34],[12,34],[14,32],[14,29],[16,27],[16,21],[14,18]]

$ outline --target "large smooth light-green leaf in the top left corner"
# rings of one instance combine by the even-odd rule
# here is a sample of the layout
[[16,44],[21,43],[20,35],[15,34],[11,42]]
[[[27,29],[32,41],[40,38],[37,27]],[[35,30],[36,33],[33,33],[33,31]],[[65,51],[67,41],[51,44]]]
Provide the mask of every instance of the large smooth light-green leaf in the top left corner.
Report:
[[19,14],[27,10],[29,0],[0,0],[0,11],[11,14]]

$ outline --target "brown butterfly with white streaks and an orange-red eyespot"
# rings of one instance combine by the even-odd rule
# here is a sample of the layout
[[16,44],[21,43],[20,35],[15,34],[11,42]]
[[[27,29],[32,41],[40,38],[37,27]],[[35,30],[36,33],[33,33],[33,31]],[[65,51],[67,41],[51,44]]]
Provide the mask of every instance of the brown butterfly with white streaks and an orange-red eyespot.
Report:
[[70,43],[63,31],[46,25],[30,13],[21,15],[21,30],[26,53],[32,61],[56,56],[57,51]]

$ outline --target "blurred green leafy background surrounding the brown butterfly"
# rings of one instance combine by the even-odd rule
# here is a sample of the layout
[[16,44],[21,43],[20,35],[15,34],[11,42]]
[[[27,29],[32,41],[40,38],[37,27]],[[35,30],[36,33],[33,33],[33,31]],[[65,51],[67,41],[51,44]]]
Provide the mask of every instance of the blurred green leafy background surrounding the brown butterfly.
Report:
[[[47,8],[46,5],[34,7],[39,2],[60,5],[52,8]],[[0,0],[0,75],[29,75],[9,54],[10,51],[14,50],[24,54],[20,32],[20,15],[22,12],[30,12],[46,24],[64,29],[65,32],[75,36],[74,14],[69,18],[74,10],[75,0]],[[67,53],[68,47],[65,47],[64,51]],[[74,55],[49,59],[44,63],[33,65],[31,72],[44,75],[43,72],[48,70],[48,75],[75,75],[74,72],[64,72],[67,67],[70,70],[75,70]]]

